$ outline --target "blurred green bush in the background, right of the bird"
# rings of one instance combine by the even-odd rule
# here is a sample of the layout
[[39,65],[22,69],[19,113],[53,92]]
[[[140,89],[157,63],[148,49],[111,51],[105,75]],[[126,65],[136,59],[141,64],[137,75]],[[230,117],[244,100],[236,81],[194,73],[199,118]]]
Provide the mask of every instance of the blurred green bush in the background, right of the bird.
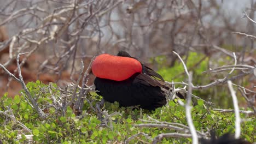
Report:
[[[184,67],[182,63],[180,61],[176,61],[173,67],[166,67],[165,59],[166,58],[164,56],[156,57],[156,62],[158,62],[158,64],[161,65],[161,68],[158,70],[158,73],[166,81],[187,82],[188,77],[186,74],[184,74]],[[218,74],[202,74],[203,71],[209,69],[209,61],[210,59],[208,57],[205,57],[205,55],[203,55],[202,53],[189,53],[186,65],[188,70],[193,72],[193,84],[195,86],[207,85],[208,83],[211,83],[214,80],[223,79],[223,77],[225,76],[224,74],[226,74],[226,72]],[[228,65],[228,63],[233,63],[233,60],[230,57],[225,57],[224,59],[214,59],[214,61],[211,61],[211,63],[212,65],[215,65],[215,67],[217,67],[218,65]],[[236,74],[236,71],[234,71],[234,74]],[[176,85],[176,87],[184,86]],[[226,89],[227,87],[217,85],[208,89],[194,90],[193,94],[207,101],[211,101],[212,103],[217,104],[217,106],[223,107],[224,109],[232,108],[232,103],[229,103],[229,101],[232,101],[232,98],[230,96],[229,91],[227,91]],[[238,96],[240,96],[240,93],[237,94]],[[241,99],[240,97],[238,97],[238,99],[240,100],[240,103],[245,101],[245,99]]]

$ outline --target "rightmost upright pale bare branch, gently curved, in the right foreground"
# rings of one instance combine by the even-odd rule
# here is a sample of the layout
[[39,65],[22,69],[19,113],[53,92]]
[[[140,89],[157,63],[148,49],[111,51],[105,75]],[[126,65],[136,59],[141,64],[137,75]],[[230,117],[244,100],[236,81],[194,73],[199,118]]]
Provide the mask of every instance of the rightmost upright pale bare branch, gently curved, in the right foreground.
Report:
[[236,121],[235,121],[235,128],[236,128],[236,132],[235,132],[235,138],[239,139],[240,134],[241,134],[241,118],[240,118],[240,114],[239,114],[239,107],[238,107],[238,102],[237,102],[237,98],[236,98],[236,93],[234,88],[232,87],[232,82],[228,81],[228,86],[229,86],[229,90],[233,99],[233,104],[234,104],[234,110],[235,110],[235,117],[236,117]]

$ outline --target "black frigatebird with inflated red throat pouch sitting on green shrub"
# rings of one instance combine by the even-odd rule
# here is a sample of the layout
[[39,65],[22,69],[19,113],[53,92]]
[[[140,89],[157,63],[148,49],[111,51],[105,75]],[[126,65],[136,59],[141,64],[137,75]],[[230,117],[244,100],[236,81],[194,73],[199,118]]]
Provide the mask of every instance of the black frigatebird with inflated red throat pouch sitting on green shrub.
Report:
[[102,54],[92,63],[97,94],[120,106],[155,110],[166,104],[164,79],[161,75],[120,51],[117,56]]

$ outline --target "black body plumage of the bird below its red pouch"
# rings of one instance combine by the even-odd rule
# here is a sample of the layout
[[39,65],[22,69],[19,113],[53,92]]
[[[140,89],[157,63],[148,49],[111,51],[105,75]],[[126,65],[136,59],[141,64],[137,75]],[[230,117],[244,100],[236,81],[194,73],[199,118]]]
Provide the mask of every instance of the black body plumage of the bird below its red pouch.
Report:
[[136,73],[124,81],[96,77],[94,84],[97,94],[110,103],[118,101],[120,106],[125,107],[139,105],[142,109],[155,110],[165,105],[166,97],[161,88],[139,79],[141,75],[144,74]]

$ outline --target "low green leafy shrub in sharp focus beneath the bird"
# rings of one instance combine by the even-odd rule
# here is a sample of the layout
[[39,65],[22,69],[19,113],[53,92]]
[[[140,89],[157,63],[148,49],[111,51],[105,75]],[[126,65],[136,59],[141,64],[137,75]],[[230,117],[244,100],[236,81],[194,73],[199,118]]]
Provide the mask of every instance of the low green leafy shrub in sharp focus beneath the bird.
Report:
[[[143,133],[130,140],[129,143],[152,142],[154,137],[161,133],[177,132],[169,128],[138,127],[139,124],[158,122],[179,123],[187,125],[184,107],[175,101],[168,105],[149,112],[135,109],[135,107],[120,107],[118,103],[106,102],[102,108],[105,113],[102,119],[97,117],[87,101],[84,102],[82,116],[76,117],[72,107],[67,107],[64,113],[50,106],[53,101],[50,97],[60,94],[56,87],[49,87],[37,81],[28,83],[28,89],[37,99],[39,106],[48,113],[46,119],[39,118],[33,107],[24,96],[16,95],[8,98],[6,93],[1,98],[0,107],[0,140],[4,143],[120,143],[132,135]],[[96,101],[101,97],[95,94],[87,95]],[[96,103],[92,103],[95,106]],[[47,106],[47,107],[46,107]],[[3,113],[4,112],[4,113]],[[233,113],[214,111],[206,107],[202,100],[193,107],[192,116],[197,130],[206,132],[207,129],[216,129],[217,135],[230,131],[234,133],[235,117]],[[241,124],[242,137],[249,141],[255,140],[255,118],[241,113],[242,118],[251,118]],[[155,120],[154,120],[155,119]],[[26,130],[25,125],[30,131]],[[144,135],[145,134],[145,135]],[[29,138],[32,136],[32,139]],[[187,138],[163,139],[162,143],[190,143]]]

